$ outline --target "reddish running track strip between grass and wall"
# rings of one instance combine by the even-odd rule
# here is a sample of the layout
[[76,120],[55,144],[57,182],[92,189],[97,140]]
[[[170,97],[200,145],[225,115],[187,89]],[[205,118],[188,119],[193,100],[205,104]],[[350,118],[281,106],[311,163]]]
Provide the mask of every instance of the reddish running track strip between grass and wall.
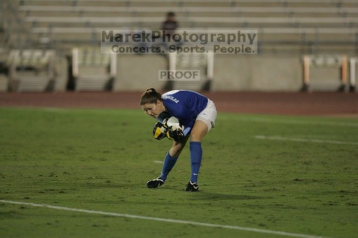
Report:
[[[138,108],[142,92],[0,93],[0,107]],[[203,92],[220,112],[358,116],[358,93]]]

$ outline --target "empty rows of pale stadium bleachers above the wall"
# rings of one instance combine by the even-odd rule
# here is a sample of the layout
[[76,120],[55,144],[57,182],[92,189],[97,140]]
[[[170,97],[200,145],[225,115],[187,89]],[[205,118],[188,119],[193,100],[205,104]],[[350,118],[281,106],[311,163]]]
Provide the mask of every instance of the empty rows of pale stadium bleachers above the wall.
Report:
[[101,30],[160,29],[173,11],[178,30],[257,30],[260,54],[358,51],[355,0],[4,0],[1,9],[3,49],[71,55],[74,47],[98,47]]

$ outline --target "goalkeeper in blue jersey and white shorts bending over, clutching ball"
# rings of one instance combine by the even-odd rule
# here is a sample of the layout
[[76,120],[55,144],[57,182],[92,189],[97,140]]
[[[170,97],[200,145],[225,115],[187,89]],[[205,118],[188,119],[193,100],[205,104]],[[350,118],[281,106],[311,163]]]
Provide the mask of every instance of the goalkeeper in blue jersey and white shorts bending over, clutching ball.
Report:
[[[173,90],[162,96],[154,88],[148,88],[141,97],[140,105],[148,115],[159,121],[153,129],[154,137],[156,139],[168,137],[174,140],[173,146],[165,156],[162,174],[158,178],[148,181],[147,187],[155,188],[164,184],[190,137],[191,177],[185,191],[198,191],[197,177],[203,156],[201,141],[215,126],[216,108],[214,103],[194,91]],[[166,125],[167,118],[172,116],[184,125],[183,131],[181,129],[171,130],[171,127]]]

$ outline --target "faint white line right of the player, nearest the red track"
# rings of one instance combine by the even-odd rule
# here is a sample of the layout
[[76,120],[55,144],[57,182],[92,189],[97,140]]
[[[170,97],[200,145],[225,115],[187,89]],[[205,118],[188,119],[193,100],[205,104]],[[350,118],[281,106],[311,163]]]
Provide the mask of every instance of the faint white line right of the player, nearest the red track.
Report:
[[317,126],[341,126],[341,127],[358,127],[358,123],[350,122],[327,122],[327,121],[303,121],[290,120],[280,118],[262,118],[262,117],[226,117],[220,116],[220,120],[226,121],[242,121],[242,122],[262,122],[262,123],[283,123],[283,124],[296,124],[296,125],[317,125]]

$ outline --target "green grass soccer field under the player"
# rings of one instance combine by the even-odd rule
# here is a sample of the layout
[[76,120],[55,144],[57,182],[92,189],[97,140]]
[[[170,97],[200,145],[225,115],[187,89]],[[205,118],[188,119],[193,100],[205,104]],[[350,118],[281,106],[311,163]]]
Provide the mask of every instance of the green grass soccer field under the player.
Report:
[[0,237],[358,234],[358,118],[219,113],[197,193],[184,192],[189,147],[162,187],[146,187],[171,141],[152,138],[141,110],[0,108],[0,118],[0,200],[149,217],[3,201]]

